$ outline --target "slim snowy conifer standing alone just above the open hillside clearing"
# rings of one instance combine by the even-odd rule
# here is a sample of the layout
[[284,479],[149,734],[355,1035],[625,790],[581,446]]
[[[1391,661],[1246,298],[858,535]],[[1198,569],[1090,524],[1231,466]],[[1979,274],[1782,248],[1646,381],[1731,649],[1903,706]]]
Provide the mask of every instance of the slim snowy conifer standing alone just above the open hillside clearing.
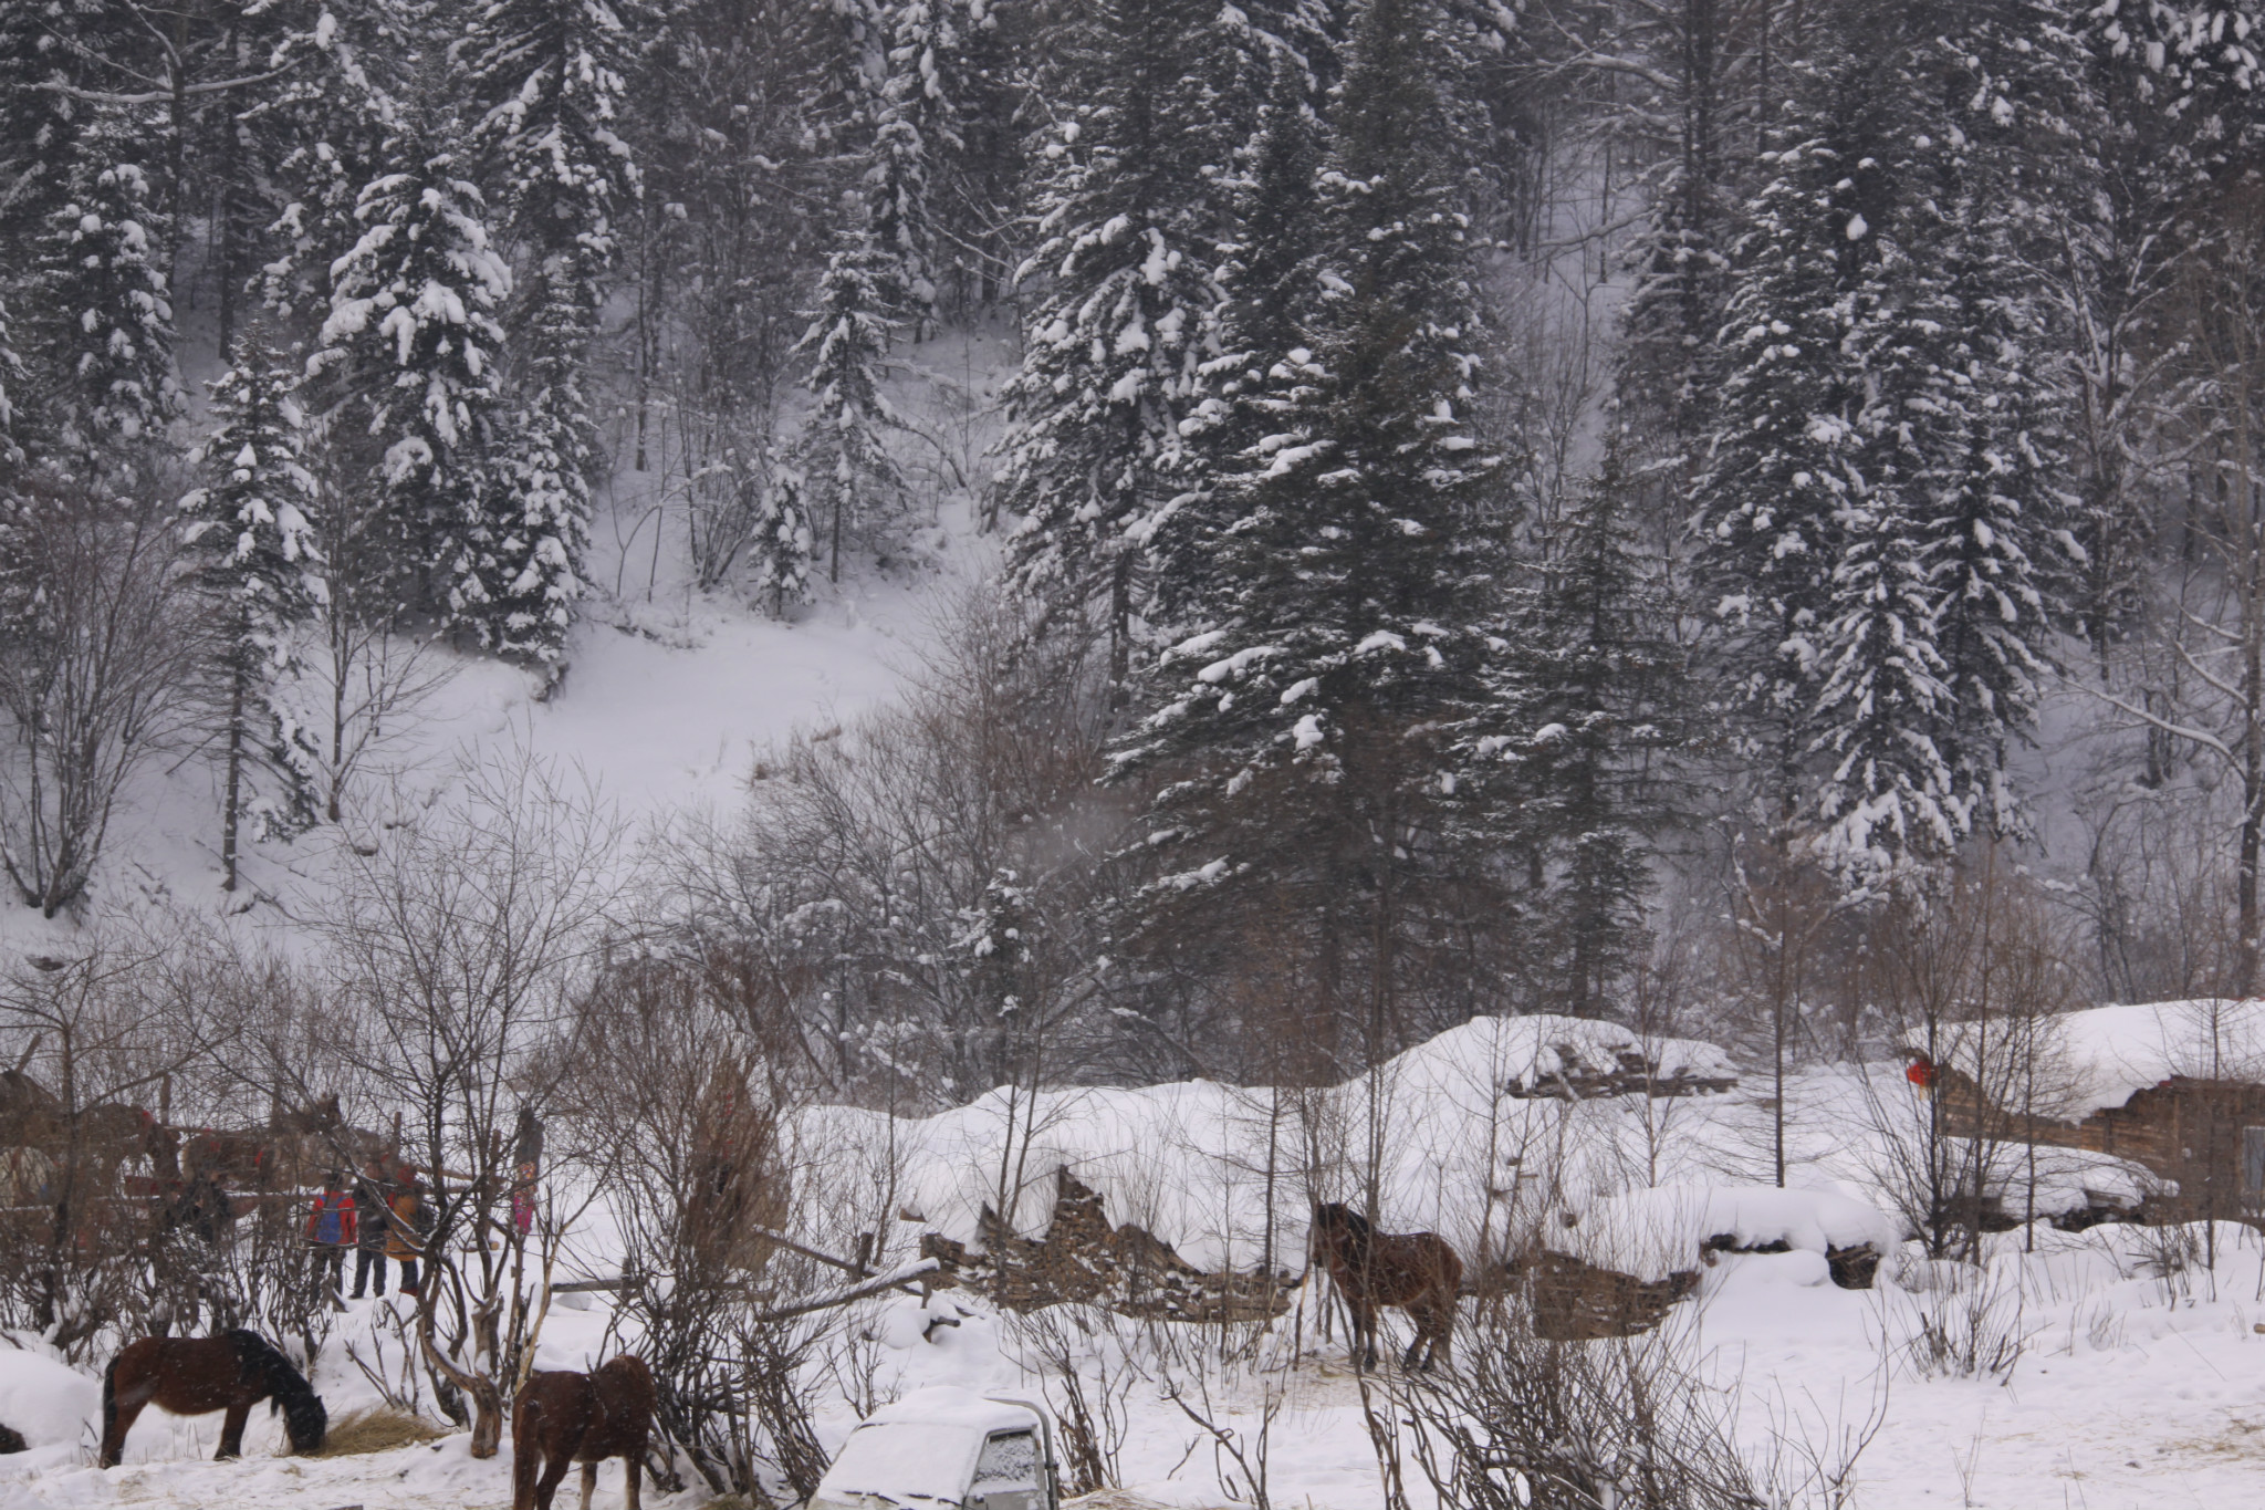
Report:
[[899,426],[881,394],[881,364],[897,326],[888,315],[895,272],[895,258],[870,235],[847,235],[827,260],[811,328],[795,344],[811,358],[811,412],[795,446],[795,469],[811,518],[824,527],[829,582],[843,575],[843,532],[886,532],[906,494],[883,439]]

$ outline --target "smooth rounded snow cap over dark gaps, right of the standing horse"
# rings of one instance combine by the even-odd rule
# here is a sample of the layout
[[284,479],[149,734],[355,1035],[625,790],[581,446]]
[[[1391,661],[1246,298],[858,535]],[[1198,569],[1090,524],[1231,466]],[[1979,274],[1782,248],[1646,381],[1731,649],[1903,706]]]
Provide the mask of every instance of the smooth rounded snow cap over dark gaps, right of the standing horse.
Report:
[[1887,1254],[1903,1241],[1903,1225],[1862,1200],[1755,1184],[1629,1191],[1570,1216],[1572,1225],[1549,1238],[1552,1247],[1638,1279],[1696,1268],[1708,1238],[1730,1238],[1730,1247],[1785,1243],[1817,1254],[1864,1243]]

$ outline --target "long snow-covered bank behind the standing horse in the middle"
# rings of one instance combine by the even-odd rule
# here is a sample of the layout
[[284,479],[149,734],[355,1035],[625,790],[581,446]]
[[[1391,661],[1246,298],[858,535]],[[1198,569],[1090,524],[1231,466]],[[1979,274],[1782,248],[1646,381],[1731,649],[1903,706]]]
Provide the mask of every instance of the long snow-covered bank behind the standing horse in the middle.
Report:
[[1300,1268],[1311,1204],[1357,1200],[1373,1170],[1386,1227],[1438,1232],[1479,1256],[1502,1252],[1563,1189],[1619,1189],[1629,1159],[1642,1168],[1631,1141],[1644,1141],[1653,1103],[1576,1093],[1624,1075],[1631,1057],[1663,1080],[1737,1078],[1721,1048],[1696,1039],[1477,1016],[1336,1087],[1001,1087],[929,1118],[815,1107],[795,1121],[795,1143],[806,1168],[886,1186],[906,1218],[972,1247],[985,1211],[1042,1238],[1067,1170],[1110,1222],[1146,1229],[1196,1268],[1255,1268],[1268,1252]]

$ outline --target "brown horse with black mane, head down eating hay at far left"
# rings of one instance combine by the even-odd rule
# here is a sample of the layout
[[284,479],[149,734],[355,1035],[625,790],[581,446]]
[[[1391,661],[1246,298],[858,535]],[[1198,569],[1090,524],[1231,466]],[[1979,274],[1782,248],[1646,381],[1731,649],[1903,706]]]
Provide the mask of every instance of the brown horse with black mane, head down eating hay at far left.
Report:
[[217,1338],[143,1338],[127,1342],[102,1374],[102,1467],[118,1467],[127,1431],[143,1406],[170,1415],[226,1410],[220,1426],[220,1458],[245,1449],[245,1417],[267,1401],[283,1410],[283,1433],[294,1453],[322,1451],[331,1413],[322,1408],[306,1376],[256,1331],[224,1331]]

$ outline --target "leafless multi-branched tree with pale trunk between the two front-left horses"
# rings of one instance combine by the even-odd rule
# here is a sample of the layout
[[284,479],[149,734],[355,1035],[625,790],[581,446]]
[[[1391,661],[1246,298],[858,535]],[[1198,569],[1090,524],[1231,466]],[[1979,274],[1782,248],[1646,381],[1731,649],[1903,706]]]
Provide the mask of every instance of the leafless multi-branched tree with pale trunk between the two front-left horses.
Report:
[[[403,1116],[403,1157],[430,1189],[417,1336],[471,1397],[471,1453],[496,1453],[535,1365],[548,1272],[573,1202],[605,1159],[546,1148],[548,1189],[584,1191],[528,1234],[510,1218],[521,1116],[544,1121],[600,1073],[573,1046],[573,1001],[623,894],[623,822],[530,756],[464,770],[460,799],[351,853],[324,921],[342,1055]],[[532,1281],[532,1288],[530,1288]]]

